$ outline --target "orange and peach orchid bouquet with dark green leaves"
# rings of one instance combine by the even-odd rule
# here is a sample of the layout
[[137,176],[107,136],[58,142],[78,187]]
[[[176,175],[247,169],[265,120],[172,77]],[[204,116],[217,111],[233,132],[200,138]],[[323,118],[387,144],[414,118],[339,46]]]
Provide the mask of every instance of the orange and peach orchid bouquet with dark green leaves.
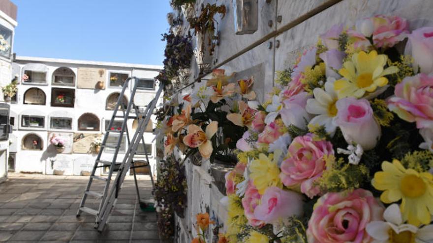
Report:
[[182,97],[182,103],[179,98],[170,100],[173,106],[181,103],[182,108],[158,125],[166,137],[165,156],[178,146],[186,158],[199,153],[211,162],[236,163],[236,143],[251,125],[256,110],[248,106],[248,100],[255,99],[253,79],[235,83],[230,82],[232,78],[224,70],[214,70],[206,86]]

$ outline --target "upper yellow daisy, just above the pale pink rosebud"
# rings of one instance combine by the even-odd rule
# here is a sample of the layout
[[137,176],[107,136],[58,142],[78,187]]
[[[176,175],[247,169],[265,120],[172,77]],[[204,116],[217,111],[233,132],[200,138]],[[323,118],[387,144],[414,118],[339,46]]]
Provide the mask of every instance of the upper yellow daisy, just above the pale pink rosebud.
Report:
[[388,79],[384,76],[399,71],[395,66],[384,69],[387,60],[386,55],[377,54],[376,51],[371,51],[368,54],[363,51],[353,54],[352,60],[344,62],[343,68],[339,70],[343,79],[334,82],[334,89],[337,91],[339,99],[344,97],[361,98],[366,94],[374,96],[385,91]]

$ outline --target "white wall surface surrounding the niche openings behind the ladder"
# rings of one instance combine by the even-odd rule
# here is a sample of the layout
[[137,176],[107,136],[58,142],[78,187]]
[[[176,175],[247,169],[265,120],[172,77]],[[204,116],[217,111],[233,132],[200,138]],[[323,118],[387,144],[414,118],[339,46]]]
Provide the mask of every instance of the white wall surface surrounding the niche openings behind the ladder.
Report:
[[[36,83],[23,83],[21,78],[23,75],[23,67],[28,63],[41,63],[48,67],[46,75],[47,82],[44,84]],[[99,63],[85,61],[74,61],[74,60],[57,60],[57,59],[41,59],[41,58],[28,58],[25,57],[20,59],[17,57],[14,63],[15,73],[19,74],[20,84],[18,85],[17,102],[11,104],[11,116],[15,117],[15,126],[12,133],[12,152],[16,153],[16,164],[15,171],[17,172],[37,172],[44,174],[53,174],[56,168],[61,167],[64,170],[64,175],[80,175],[80,172],[88,167],[93,166],[97,154],[78,154],[78,153],[57,153],[49,142],[50,132],[61,132],[67,134],[73,133],[84,133],[84,134],[102,134],[101,138],[105,134],[105,121],[110,120],[113,110],[106,110],[107,97],[114,92],[121,92],[121,87],[110,87],[109,86],[109,72],[126,73],[128,76],[134,76],[137,78],[154,79],[157,76],[160,67],[149,66],[149,68],[140,67],[140,65],[134,64],[116,64],[116,63]],[[145,65],[141,65],[145,66]],[[68,67],[75,74],[75,85],[74,86],[59,86],[52,84],[53,72],[59,67]],[[84,89],[77,87],[78,68],[90,67],[100,68],[106,70],[105,77],[105,89]],[[135,95],[135,103],[139,106],[147,105],[154,97],[156,93],[158,82],[156,83],[155,90],[137,90]],[[33,87],[40,88],[46,95],[45,105],[25,105],[24,104],[24,93]],[[132,83],[129,83],[129,87],[125,91],[126,98],[130,99]],[[75,89],[75,102],[73,108],[67,107],[52,107],[51,106],[51,90],[52,88],[72,88]],[[158,104],[162,102],[162,97],[158,101]],[[100,120],[100,131],[88,132],[78,131],[78,118],[83,113],[93,113]],[[122,111],[118,111],[118,115],[121,115]],[[42,115],[45,117],[44,128],[26,128],[22,127],[22,115]],[[50,117],[71,117],[72,118],[72,130],[59,130],[50,128]],[[122,119],[120,119],[122,120]],[[155,128],[155,117],[152,117]],[[128,131],[130,137],[134,134],[135,130],[132,130],[133,120],[128,121]],[[42,150],[25,150],[23,149],[23,138],[24,136],[34,133],[40,136],[43,141]],[[124,133],[126,135],[126,133]],[[144,139],[146,143],[152,143],[154,135],[152,133],[145,133]],[[127,149],[127,146],[126,146]],[[66,151],[65,151],[66,152]],[[152,156],[150,156],[150,162],[153,171],[156,169],[156,149],[155,142],[152,145]],[[119,154],[117,161],[122,161],[124,155]],[[145,156],[136,156],[137,159],[145,159]],[[112,160],[112,154],[103,153],[102,160]],[[91,170],[91,168],[89,169]],[[97,174],[102,173],[101,170]]]

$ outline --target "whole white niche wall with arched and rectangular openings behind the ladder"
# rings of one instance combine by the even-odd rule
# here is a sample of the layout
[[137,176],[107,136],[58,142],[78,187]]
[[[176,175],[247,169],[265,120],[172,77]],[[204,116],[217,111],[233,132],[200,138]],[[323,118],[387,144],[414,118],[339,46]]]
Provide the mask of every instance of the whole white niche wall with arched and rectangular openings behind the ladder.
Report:
[[[140,78],[134,103],[145,107],[155,97],[158,82],[154,77],[160,69],[153,65],[17,56],[12,64],[18,92],[10,108],[13,132],[9,169],[88,175],[97,156],[94,142],[101,140],[105,131],[119,129],[122,125],[122,118],[119,118],[112,128],[108,127],[124,81],[128,77]],[[131,98],[132,87],[129,81],[124,103]],[[129,134],[133,134],[137,121],[128,120],[127,126]],[[154,127],[153,122],[148,124],[144,138],[155,171]],[[61,152],[50,143],[55,136],[65,141]],[[116,134],[110,134],[107,143],[117,140]],[[124,134],[118,162],[123,159],[127,146]],[[106,148],[102,160],[111,160],[113,151],[109,150]],[[137,157],[145,158],[144,151],[138,153]],[[97,174],[100,175],[108,171],[99,169]]]

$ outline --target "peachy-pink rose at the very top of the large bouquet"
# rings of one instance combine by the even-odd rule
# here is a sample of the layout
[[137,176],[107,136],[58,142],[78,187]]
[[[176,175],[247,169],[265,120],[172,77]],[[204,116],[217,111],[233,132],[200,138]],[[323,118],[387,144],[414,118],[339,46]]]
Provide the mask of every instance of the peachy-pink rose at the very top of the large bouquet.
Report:
[[[367,24],[368,23],[368,24]],[[372,24],[372,26],[370,26]],[[355,40],[355,47],[366,48],[370,46],[367,37],[371,37],[376,48],[393,47],[406,38],[408,31],[407,21],[398,16],[376,15],[371,18],[359,20],[355,29],[347,30],[347,34]],[[366,36],[367,35],[367,36]]]

